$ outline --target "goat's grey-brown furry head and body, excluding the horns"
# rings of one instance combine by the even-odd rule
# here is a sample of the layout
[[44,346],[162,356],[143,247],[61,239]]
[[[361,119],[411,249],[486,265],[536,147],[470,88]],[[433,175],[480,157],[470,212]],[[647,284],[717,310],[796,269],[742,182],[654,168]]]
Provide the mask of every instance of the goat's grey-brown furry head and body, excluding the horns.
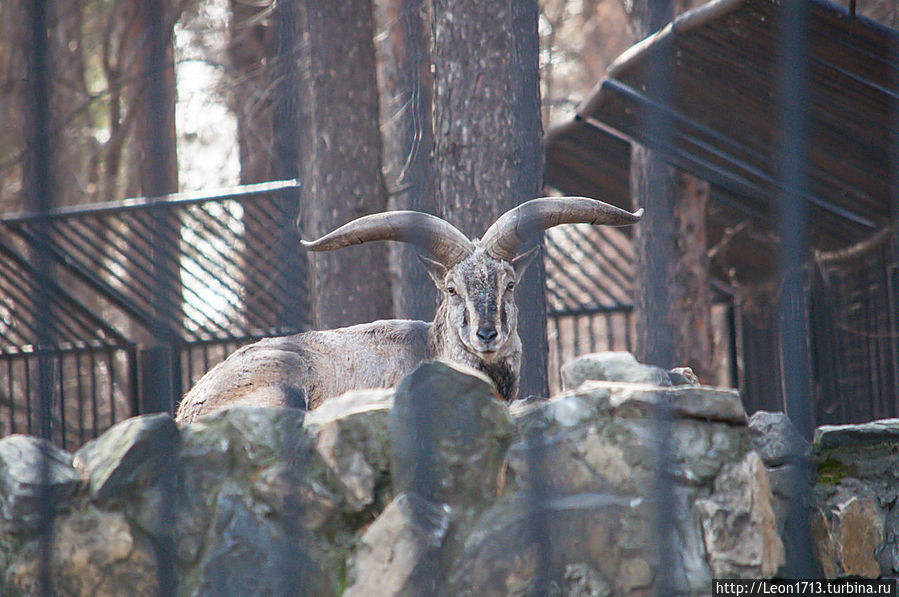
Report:
[[[443,295],[432,323],[384,320],[260,340],[212,368],[184,396],[176,420],[190,423],[232,404],[315,408],[353,389],[393,387],[419,363],[461,362],[483,371],[500,396],[518,393],[521,340],[514,287],[520,271],[483,249],[452,268],[426,262]],[[478,330],[496,336],[489,342]]]

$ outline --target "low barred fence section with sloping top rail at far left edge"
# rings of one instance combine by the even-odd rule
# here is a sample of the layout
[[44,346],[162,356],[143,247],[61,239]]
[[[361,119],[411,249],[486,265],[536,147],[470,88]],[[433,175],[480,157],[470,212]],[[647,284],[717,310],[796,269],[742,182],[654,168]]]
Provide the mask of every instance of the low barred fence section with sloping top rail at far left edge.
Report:
[[[50,438],[73,448],[137,412],[136,346],[55,282],[44,281],[54,341],[40,344],[36,322],[38,276],[0,238],[0,428],[3,435],[41,429],[52,417]],[[40,368],[50,371],[50,395],[41,395]]]

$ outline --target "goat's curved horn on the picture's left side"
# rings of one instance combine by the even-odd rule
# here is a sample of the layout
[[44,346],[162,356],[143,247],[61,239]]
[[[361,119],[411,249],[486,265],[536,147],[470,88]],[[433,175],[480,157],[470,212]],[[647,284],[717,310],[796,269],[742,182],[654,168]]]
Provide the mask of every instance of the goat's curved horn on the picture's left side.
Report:
[[331,251],[372,240],[413,244],[449,267],[467,257],[474,244],[449,222],[419,211],[388,211],[362,216],[313,241],[300,241],[310,251]]

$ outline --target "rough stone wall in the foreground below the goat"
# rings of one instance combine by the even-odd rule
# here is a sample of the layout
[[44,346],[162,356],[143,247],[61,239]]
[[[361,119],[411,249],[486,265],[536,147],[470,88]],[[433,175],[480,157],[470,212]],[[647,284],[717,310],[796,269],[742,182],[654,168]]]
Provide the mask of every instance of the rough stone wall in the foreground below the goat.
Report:
[[[776,574],[788,422],[750,426],[735,391],[626,353],[563,375],[562,394],[507,407],[433,363],[310,413],[137,417],[74,455],[6,437],[0,594],[709,594]],[[819,430],[830,576],[896,570],[892,429]]]

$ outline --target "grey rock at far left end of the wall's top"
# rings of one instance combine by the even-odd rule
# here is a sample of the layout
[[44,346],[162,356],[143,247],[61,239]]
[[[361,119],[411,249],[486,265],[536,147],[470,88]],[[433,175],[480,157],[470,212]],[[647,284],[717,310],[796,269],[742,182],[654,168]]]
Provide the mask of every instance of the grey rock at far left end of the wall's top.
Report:
[[72,456],[29,435],[0,440],[0,531],[36,529],[42,517],[67,508],[80,475]]

